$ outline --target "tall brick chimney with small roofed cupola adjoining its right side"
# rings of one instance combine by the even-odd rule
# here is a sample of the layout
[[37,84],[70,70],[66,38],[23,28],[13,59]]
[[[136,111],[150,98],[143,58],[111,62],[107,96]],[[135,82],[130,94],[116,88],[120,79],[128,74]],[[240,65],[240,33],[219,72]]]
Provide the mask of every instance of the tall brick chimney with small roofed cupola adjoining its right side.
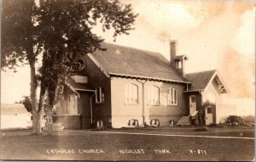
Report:
[[185,62],[188,60],[186,55],[177,55],[177,41],[173,40],[170,42],[170,62],[173,68],[177,69],[183,76],[185,72]]

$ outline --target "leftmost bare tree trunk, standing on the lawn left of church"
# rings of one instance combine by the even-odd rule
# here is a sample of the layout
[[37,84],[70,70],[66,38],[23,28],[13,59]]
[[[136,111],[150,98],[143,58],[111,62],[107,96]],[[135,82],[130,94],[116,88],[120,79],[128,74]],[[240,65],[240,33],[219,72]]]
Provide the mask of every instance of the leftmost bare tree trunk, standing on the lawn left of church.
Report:
[[37,81],[36,81],[36,68],[35,62],[30,62],[30,98],[32,103],[32,132],[34,134],[41,134],[41,121],[42,121],[42,109],[38,109],[37,100]]

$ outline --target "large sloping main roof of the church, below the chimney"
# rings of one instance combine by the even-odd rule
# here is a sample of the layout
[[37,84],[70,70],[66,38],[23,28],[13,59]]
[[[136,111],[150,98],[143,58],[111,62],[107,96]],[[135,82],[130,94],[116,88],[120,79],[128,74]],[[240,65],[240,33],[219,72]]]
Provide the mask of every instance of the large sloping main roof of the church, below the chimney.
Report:
[[102,43],[102,48],[107,50],[97,50],[89,57],[105,74],[189,83],[160,53],[110,43]]

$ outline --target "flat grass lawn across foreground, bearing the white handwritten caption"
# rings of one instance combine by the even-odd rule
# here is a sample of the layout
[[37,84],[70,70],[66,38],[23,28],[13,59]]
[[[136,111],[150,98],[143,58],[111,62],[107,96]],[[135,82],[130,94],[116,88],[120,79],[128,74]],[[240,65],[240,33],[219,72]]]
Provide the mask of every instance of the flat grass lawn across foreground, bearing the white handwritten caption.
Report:
[[[132,131],[134,130],[122,130]],[[139,131],[187,135],[195,133],[191,129]],[[234,132],[235,137],[241,137],[239,133],[243,133],[242,137],[254,137],[254,130],[206,132],[200,133],[204,136],[217,136],[225,132],[226,135],[233,136]],[[53,136],[30,134],[31,131],[1,131],[1,159],[234,161],[254,158],[254,139],[165,137],[97,131],[56,131]]]

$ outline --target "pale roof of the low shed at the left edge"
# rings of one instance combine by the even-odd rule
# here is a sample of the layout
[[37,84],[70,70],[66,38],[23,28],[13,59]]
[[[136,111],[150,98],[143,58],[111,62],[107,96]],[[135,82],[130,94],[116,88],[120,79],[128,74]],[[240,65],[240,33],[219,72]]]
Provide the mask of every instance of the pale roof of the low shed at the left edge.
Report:
[[1,115],[18,115],[18,114],[30,114],[24,104],[22,103],[10,103],[1,104]]

